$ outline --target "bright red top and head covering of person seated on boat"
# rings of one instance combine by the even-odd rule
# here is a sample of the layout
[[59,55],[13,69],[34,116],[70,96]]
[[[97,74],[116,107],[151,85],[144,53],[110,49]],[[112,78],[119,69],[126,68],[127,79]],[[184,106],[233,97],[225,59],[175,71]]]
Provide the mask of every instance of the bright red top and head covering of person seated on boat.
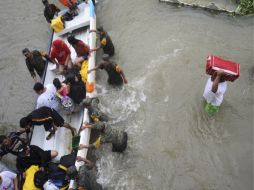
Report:
[[71,54],[70,49],[62,40],[55,40],[50,53],[51,59],[57,59],[60,65],[64,65],[66,58]]

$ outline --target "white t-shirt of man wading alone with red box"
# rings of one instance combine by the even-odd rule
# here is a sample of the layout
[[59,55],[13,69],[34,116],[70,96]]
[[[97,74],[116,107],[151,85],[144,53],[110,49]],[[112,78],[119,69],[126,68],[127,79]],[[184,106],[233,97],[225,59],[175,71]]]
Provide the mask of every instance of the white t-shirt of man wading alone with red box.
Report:
[[212,85],[213,81],[211,80],[211,77],[209,77],[206,82],[203,96],[207,103],[211,103],[213,106],[220,106],[223,101],[223,95],[227,90],[227,82],[220,82],[216,93],[212,92]]

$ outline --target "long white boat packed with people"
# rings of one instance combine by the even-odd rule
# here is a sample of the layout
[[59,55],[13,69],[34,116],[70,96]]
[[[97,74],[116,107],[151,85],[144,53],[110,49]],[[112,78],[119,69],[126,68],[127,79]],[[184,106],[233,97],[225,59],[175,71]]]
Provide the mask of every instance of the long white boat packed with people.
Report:
[[[91,49],[94,49],[96,46],[96,33],[91,32],[90,30],[96,30],[96,15],[94,12],[94,5],[91,0],[89,0],[89,3],[81,3],[78,5],[79,8],[79,14],[78,16],[74,17],[73,20],[67,21],[65,23],[65,29],[59,33],[53,32],[53,35],[50,40],[50,46],[49,50],[51,48],[51,43],[55,39],[62,39],[66,44],[67,42],[67,33],[72,32],[72,34],[75,35],[77,39],[82,40],[86,44],[89,44]],[[61,11],[59,14],[64,14],[65,11]],[[71,50],[71,58],[72,60],[76,57],[75,50],[70,47]],[[88,69],[94,68],[95,66],[95,56],[96,53],[92,52],[89,56],[88,60]],[[64,78],[61,75],[57,75],[56,72],[52,70],[52,68],[55,67],[54,64],[48,63],[47,70],[45,73],[45,78],[43,80],[44,85],[47,85],[49,83],[53,82],[53,79],[55,77],[58,77],[60,81],[62,81]],[[95,72],[92,72],[87,77],[87,82],[94,83],[95,84]],[[93,97],[94,92],[88,93],[87,96]],[[74,113],[71,115],[62,115],[65,119],[65,122],[69,123],[72,127],[76,128],[77,131],[79,131],[80,127],[82,126],[82,123],[89,122],[89,116],[87,109],[82,110],[81,112]],[[89,144],[90,139],[90,129],[85,129],[81,131],[80,133],[80,142],[79,144]],[[47,135],[49,132],[46,132],[44,130],[44,127],[34,127],[32,138],[31,138],[31,144],[37,145],[41,147],[43,150],[56,150],[58,151],[58,156],[54,159],[55,161],[59,160],[61,156],[69,154],[72,150],[72,135],[70,130],[61,127],[58,128],[55,135],[50,139],[46,140]],[[87,155],[87,149],[82,149],[78,151],[78,156],[86,157]],[[82,162],[76,162],[75,165],[77,168],[82,165]]]

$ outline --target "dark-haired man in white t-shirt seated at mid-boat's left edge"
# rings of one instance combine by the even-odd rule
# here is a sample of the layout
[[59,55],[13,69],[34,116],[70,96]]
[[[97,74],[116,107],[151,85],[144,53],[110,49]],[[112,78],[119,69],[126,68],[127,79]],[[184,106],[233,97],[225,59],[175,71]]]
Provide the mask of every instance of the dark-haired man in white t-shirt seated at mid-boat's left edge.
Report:
[[56,96],[56,88],[53,84],[47,84],[45,87],[40,82],[35,83],[34,91],[39,95],[36,109],[46,106],[58,111],[59,99]]

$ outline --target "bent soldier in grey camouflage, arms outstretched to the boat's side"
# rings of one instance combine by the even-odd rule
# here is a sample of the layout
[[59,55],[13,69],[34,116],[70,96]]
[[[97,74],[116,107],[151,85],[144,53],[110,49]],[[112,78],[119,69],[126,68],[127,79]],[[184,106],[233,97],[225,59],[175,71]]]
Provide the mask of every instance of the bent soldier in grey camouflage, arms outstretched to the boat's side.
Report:
[[93,144],[80,144],[80,149],[99,148],[103,143],[111,143],[113,152],[123,152],[127,147],[128,135],[124,130],[113,129],[108,124],[100,121],[93,124],[85,124],[81,129],[86,128],[99,130],[100,137]]

